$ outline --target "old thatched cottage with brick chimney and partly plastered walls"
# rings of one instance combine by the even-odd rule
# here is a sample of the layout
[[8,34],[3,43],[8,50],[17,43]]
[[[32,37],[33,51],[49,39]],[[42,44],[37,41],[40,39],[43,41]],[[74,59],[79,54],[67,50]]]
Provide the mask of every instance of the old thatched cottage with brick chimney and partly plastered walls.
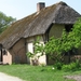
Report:
[[[45,3],[37,4],[37,12],[13,23],[0,36],[0,62],[3,64],[31,63],[26,55],[33,52],[33,41],[41,38],[43,44],[55,36],[59,38],[65,28],[67,31],[72,27],[80,14],[65,2],[58,2],[45,8]],[[41,56],[39,64],[49,64],[46,55]]]

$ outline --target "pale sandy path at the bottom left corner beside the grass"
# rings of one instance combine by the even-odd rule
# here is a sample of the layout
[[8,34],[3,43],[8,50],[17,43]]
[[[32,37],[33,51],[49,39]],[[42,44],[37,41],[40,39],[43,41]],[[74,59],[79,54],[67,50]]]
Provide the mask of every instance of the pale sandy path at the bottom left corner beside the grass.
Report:
[[8,76],[3,72],[0,72],[0,81],[24,81],[17,77]]

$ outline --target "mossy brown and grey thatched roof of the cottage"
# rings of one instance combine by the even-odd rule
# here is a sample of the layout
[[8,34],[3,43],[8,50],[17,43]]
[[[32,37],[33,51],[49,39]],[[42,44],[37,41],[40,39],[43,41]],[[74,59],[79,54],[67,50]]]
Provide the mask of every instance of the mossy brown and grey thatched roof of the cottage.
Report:
[[43,35],[52,23],[75,24],[80,14],[64,2],[44,8],[39,14],[33,13],[12,24],[1,36],[0,43],[6,49],[21,38]]

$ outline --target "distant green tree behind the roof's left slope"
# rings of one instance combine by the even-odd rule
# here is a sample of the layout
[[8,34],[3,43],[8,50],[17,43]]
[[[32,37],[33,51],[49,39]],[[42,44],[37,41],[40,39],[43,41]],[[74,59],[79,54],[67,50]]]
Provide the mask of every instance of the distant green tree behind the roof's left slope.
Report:
[[6,16],[4,13],[0,12],[0,33],[6,29],[16,18]]

